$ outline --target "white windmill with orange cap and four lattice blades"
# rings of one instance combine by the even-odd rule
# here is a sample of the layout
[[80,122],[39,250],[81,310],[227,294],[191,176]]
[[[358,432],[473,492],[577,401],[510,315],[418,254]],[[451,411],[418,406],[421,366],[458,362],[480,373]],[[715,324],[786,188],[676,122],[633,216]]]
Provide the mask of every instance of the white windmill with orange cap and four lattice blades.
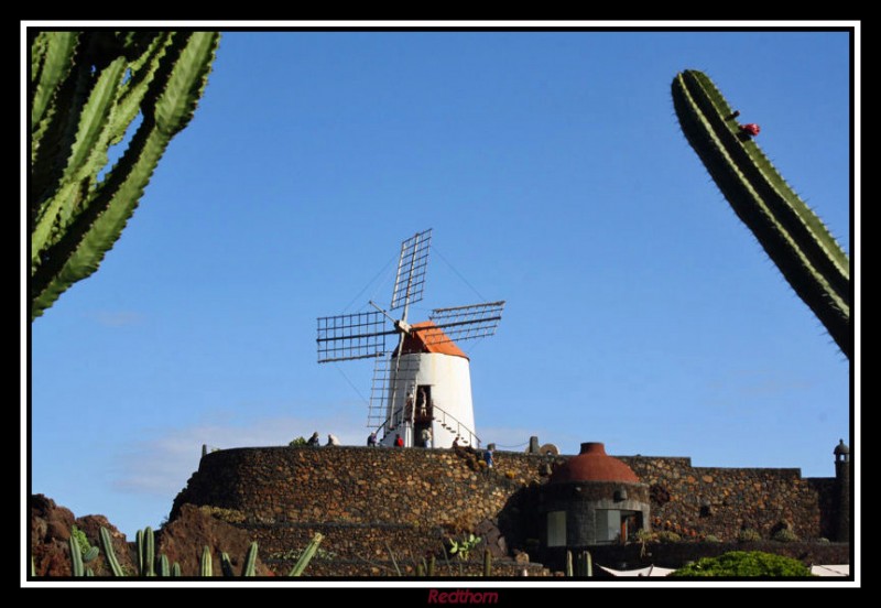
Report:
[[504,301],[434,308],[428,321],[409,323],[410,305],[423,296],[431,240],[428,229],[401,243],[388,310],[371,300],[376,311],[318,318],[318,362],[374,359],[367,426],[382,445],[400,436],[407,447],[479,447],[470,361],[456,343],[493,335]]

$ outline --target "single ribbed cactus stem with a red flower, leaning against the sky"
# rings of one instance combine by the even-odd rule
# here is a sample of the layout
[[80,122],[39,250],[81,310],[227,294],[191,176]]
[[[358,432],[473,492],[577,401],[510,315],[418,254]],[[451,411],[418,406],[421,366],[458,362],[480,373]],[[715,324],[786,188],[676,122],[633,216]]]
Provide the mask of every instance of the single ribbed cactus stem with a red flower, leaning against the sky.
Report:
[[795,293],[848,357],[850,262],[823,221],[746,134],[721,93],[693,69],[673,80],[673,106],[688,143],[728,203],[752,230]]

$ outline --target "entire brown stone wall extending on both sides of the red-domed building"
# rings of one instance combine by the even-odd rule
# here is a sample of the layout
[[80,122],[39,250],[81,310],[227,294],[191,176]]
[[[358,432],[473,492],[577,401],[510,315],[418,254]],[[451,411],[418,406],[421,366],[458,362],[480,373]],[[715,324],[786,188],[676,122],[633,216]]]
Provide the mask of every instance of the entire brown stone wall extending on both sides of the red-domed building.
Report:
[[[501,540],[493,549],[502,554],[527,551],[534,557],[541,491],[565,458],[497,452],[488,471],[467,449],[225,449],[202,458],[171,519],[184,503],[210,506],[220,519],[248,530],[268,562],[320,532],[323,551],[340,564],[361,563],[367,575],[371,568],[388,574],[388,563],[377,564],[389,562],[390,549],[395,558],[416,564],[479,525],[497,526],[493,539]],[[798,469],[692,467],[689,458],[618,458],[649,487],[655,529],[731,541],[741,528],[769,538],[785,524],[802,539],[815,539],[824,535],[822,522],[834,521],[834,479],[808,481]]]

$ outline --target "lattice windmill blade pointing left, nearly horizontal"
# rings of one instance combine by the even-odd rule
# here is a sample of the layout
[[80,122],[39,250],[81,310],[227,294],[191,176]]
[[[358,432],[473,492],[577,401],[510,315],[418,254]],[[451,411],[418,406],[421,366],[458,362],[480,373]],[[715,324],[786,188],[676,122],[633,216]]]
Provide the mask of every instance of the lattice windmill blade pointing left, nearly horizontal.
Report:
[[385,337],[395,333],[379,312],[318,317],[318,362],[377,357],[387,352]]

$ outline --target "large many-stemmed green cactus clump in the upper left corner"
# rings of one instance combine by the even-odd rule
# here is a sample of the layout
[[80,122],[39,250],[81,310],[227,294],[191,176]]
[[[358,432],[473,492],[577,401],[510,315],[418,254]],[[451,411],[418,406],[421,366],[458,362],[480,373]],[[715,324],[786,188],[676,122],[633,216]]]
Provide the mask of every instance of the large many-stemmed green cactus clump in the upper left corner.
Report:
[[[31,321],[119,239],[193,117],[218,41],[217,32],[29,32]],[[139,116],[108,169],[109,149]]]

